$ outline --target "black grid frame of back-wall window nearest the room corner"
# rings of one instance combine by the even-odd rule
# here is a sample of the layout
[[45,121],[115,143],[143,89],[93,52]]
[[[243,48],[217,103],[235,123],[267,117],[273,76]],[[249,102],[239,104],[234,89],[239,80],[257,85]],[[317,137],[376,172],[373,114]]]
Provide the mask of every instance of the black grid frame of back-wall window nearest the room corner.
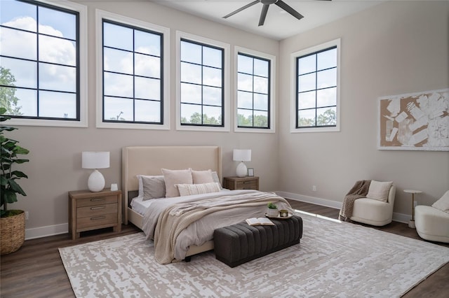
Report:
[[[238,124],[239,119],[237,118],[236,119],[237,127],[238,128],[245,128],[245,129],[246,128],[248,128],[248,129],[271,129],[271,120],[272,120],[271,119],[271,117],[272,117],[272,111],[271,111],[271,101],[272,101],[272,97],[271,97],[271,94],[272,94],[272,60],[271,59],[267,59],[267,58],[263,58],[263,57],[258,57],[258,56],[255,56],[255,55],[250,55],[250,54],[247,54],[245,52],[237,52],[237,57],[239,57],[239,55],[253,58],[253,73],[243,73],[243,74],[246,74],[248,76],[253,76],[253,91],[249,92],[249,91],[245,91],[245,90],[239,90],[239,88],[237,86],[237,88],[236,88],[236,90],[237,90],[237,106],[236,106],[237,117],[239,115],[239,109],[253,111],[253,126],[239,125]],[[267,90],[267,97],[268,97],[268,102],[267,102],[267,127],[254,126],[254,111],[264,111],[264,110],[257,110],[257,109],[254,108],[254,94],[264,94],[264,93],[260,93],[260,92],[254,92],[254,77],[257,76],[257,75],[254,74],[254,60],[255,59],[259,59],[259,60],[268,62],[268,76],[266,77],[267,80],[268,80],[268,90]],[[242,73],[242,72],[239,72],[239,67],[237,66],[237,76],[239,76],[239,73]],[[257,77],[265,78],[263,76],[257,76]],[[239,108],[239,91],[241,91],[241,92],[248,92],[248,93],[252,94],[252,96],[253,96],[253,108],[251,108],[251,109],[250,108]]]

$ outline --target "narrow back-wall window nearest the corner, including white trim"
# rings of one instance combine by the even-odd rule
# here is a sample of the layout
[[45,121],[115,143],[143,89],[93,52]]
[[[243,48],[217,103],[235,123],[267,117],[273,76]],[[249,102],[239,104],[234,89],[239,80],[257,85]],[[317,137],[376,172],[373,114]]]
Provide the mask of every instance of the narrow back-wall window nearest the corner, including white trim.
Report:
[[236,47],[236,132],[274,132],[275,57]]

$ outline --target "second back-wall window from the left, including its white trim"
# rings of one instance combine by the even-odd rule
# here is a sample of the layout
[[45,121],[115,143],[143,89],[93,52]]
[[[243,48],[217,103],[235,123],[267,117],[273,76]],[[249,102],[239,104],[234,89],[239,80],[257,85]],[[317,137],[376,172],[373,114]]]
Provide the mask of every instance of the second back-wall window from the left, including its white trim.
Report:
[[98,127],[167,129],[168,29],[97,10]]

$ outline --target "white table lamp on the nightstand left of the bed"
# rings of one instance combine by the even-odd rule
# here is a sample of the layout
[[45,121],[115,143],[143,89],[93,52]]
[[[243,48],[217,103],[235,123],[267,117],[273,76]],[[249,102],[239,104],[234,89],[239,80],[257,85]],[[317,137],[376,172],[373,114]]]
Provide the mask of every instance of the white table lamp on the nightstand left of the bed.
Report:
[[105,188],[105,177],[98,169],[109,168],[109,152],[83,152],[83,169],[94,169],[87,181],[91,192],[100,192]]

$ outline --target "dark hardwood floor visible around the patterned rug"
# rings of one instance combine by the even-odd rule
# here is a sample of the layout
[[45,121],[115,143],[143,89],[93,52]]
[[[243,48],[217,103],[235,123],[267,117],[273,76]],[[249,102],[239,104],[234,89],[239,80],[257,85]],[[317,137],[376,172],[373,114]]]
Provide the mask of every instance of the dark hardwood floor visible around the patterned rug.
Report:
[[[338,218],[337,209],[300,201],[289,201],[295,209],[323,215],[328,218]],[[401,222],[391,222],[391,224],[378,229],[420,239],[415,229],[410,229]],[[120,233],[114,233],[112,229],[85,232],[81,234],[80,239],[75,241],[70,239],[69,234],[27,240],[17,252],[1,256],[0,297],[74,297],[58,248],[123,236],[139,231],[140,229],[133,225],[123,225]],[[436,244],[449,247],[449,243]],[[445,266],[403,297],[443,298],[448,297],[448,293],[449,264],[445,264]]]

